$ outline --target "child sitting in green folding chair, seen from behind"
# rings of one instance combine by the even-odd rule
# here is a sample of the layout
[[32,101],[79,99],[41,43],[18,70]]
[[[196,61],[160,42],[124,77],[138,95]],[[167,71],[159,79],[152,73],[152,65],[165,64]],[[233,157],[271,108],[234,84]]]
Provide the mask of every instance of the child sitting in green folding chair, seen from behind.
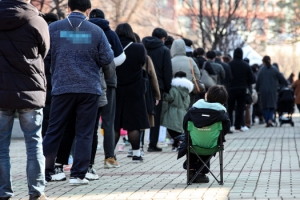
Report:
[[[187,154],[189,162],[185,161],[183,167],[189,169],[187,176],[188,185],[192,182],[209,182],[209,178],[206,174],[211,173],[209,170],[210,159],[217,152],[221,154],[221,181],[218,181],[216,177],[211,174],[219,184],[223,184],[223,142],[225,142],[225,134],[230,130],[230,120],[226,108],[224,107],[227,98],[228,94],[224,86],[216,85],[210,87],[205,94],[205,100],[201,99],[197,101],[184,117],[183,128],[185,130],[185,141],[179,148],[178,159]],[[207,135],[207,133],[209,135]],[[190,137],[191,139],[189,139]],[[199,144],[204,144],[205,147]],[[193,149],[187,148],[187,146]],[[201,160],[206,162],[206,166],[203,165]]]

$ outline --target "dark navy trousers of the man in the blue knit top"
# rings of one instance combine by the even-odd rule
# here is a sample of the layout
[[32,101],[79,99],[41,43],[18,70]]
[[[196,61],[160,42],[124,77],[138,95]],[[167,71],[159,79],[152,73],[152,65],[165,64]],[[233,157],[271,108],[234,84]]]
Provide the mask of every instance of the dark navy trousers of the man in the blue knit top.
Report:
[[49,127],[43,141],[46,158],[46,180],[54,174],[54,164],[58,148],[68,119],[75,111],[76,144],[71,177],[83,179],[91,159],[93,131],[97,115],[99,96],[94,94],[63,94],[52,97]]

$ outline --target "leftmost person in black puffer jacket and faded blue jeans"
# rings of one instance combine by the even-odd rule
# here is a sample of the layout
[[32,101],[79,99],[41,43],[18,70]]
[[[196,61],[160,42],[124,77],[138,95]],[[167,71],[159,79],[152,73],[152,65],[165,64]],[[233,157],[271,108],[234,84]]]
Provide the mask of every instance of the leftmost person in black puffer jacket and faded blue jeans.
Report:
[[0,199],[14,195],[9,146],[15,113],[25,137],[30,200],[46,200],[42,149],[48,25],[30,0],[0,2]]

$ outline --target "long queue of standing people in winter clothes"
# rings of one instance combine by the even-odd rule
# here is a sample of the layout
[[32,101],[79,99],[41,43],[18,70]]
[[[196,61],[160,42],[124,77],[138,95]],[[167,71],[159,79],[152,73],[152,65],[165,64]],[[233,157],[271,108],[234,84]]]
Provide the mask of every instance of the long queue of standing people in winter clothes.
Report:
[[[232,131],[244,131],[247,94],[253,93],[255,83],[265,122],[273,126],[276,91],[269,88],[287,83],[270,57],[264,57],[256,77],[241,48],[231,60],[220,51],[193,50],[192,41],[174,39],[162,28],[140,40],[130,24],[121,23],[113,31],[105,13],[91,7],[90,0],[68,0],[69,15],[59,20],[55,14],[39,13],[30,0],[1,1],[0,199],[13,196],[9,144],[16,112],[25,135],[32,200],[47,199],[47,182],[67,179],[63,165],[72,147],[69,184],[99,179],[93,165],[99,159],[100,117],[106,169],[121,166],[115,148],[122,129],[127,130],[135,163],[144,159],[145,129],[150,129],[148,152],[162,151],[157,145],[161,125],[177,151],[184,116],[191,107],[209,105],[204,99],[221,103],[226,126],[231,123]],[[207,86],[209,95],[192,93],[204,70],[214,85],[224,87]],[[296,91],[298,85],[293,83]]]

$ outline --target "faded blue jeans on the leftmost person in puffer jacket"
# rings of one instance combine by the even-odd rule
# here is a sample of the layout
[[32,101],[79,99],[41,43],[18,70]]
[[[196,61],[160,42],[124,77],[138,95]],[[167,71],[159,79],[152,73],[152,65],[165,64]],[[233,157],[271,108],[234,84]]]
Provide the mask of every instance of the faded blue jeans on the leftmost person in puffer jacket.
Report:
[[[18,109],[17,111],[25,137],[29,195],[40,196],[45,189],[45,158],[41,135],[43,109]],[[13,196],[9,146],[15,112],[16,110],[0,108],[0,197]]]

